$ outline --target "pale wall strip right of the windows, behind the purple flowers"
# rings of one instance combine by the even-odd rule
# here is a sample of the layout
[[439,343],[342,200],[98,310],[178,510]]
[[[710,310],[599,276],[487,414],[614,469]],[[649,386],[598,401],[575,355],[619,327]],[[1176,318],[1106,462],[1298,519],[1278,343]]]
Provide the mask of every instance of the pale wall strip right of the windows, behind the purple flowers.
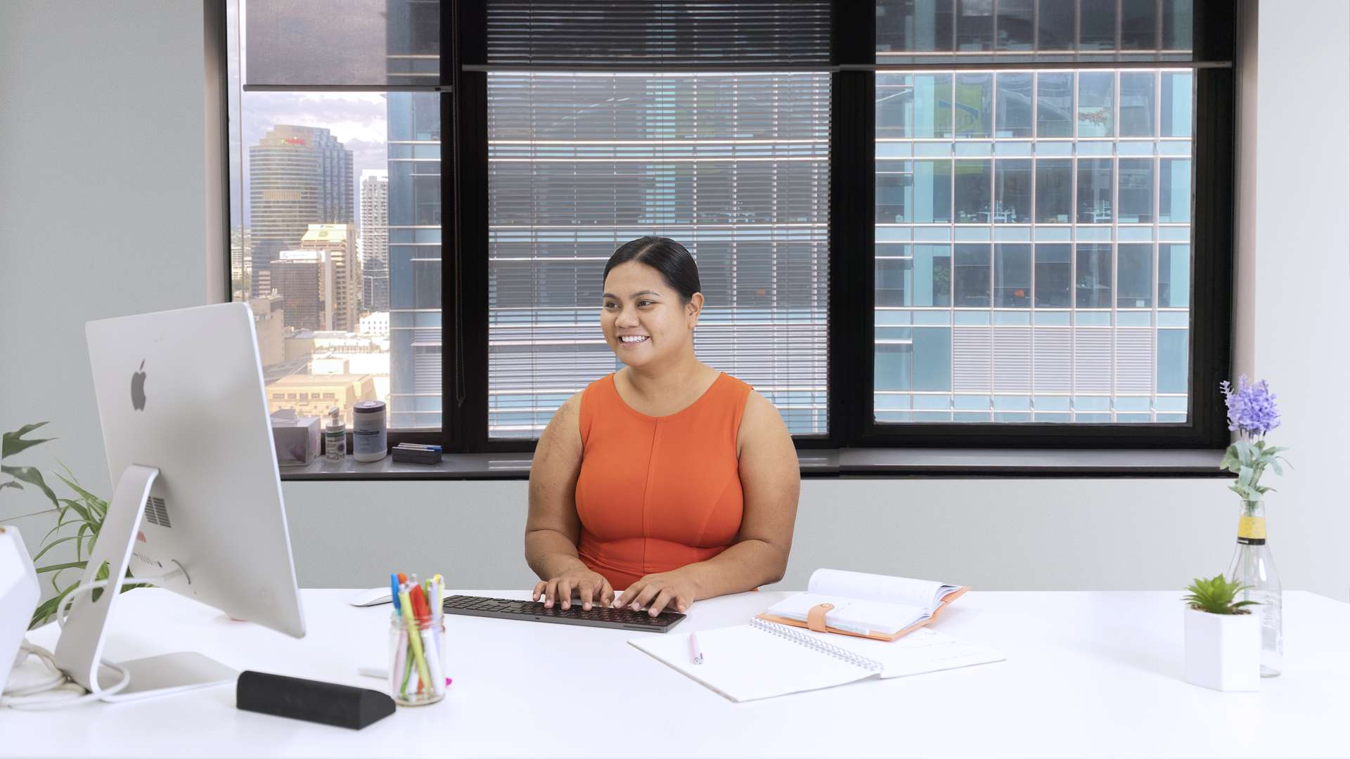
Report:
[[1350,4],[1265,3],[1258,22],[1253,311],[1235,369],[1270,382],[1295,469],[1268,496],[1285,586],[1350,589]]

